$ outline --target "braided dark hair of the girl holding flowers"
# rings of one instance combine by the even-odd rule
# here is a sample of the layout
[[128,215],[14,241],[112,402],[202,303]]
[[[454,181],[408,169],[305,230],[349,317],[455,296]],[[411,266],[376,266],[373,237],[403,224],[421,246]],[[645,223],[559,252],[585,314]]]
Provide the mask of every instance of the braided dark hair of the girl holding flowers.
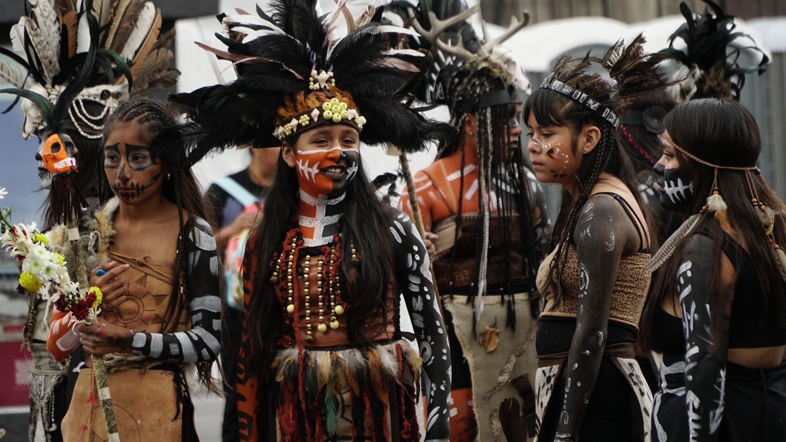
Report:
[[[171,179],[163,182],[163,195],[167,200],[178,206],[178,241],[177,252],[174,262],[174,278],[176,282],[172,286],[171,296],[164,311],[161,333],[174,332],[182,312],[188,308],[189,290],[188,278],[185,278],[186,258],[192,250],[186,249],[185,235],[191,234],[193,237],[194,217],[200,217],[211,223],[208,219],[208,211],[204,208],[204,203],[200,199],[200,188],[191,173],[190,168],[177,167],[178,158],[182,153],[173,152],[172,149],[160,149],[157,143],[159,134],[175,127],[176,121],[167,106],[161,101],[149,98],[126,101],[119,105],[115,112],[109,116],[105,128],[105,138],[119,125],[135,123],[138,124],[138,134],[141,142],[149,146],[152,157],[157,158],[168,171]],[[168,145],[168,144],[167,144]],[[185,219],[185,215],[189,219]],[[213,223],[211,223],[213,225]],[[210,363],[197,363],[196,369],[200,380],[211,390],[215,390],[215,383],[212,381]]]

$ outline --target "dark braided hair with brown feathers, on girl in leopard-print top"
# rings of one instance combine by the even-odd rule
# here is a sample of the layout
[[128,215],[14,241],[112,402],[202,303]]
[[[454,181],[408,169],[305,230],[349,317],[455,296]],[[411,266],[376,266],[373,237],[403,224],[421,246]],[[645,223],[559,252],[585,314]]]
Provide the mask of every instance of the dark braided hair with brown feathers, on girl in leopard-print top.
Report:
[[[663,54],[645,53],[644,43],[645,39],[639,35],[628,46],[622,41],[612,46],[600,60],[605,75],[590,73],[591,63],[598,60],[590,58],[587,53],[583,58],[560,57],[552,68],[553,77],[620,115],[638,98],[668,86],[667,80],[656,70]],[[630,190],[645,215],[648,230],[651,217],[637,190],[634,164],[619,143],[612,123],[586,105],[547,88],[535,90],[527,100],[523,109],[524,119],[527,120],[531,114],[541,126],[569,127],[573,134],[573,149],[578,145],[578,134],[584,127],[592,125],[601,131],[595,149],[584,155],[575,175],[578,192],[575,195],[567,190],[562,192],[560,212],[550,241],[550,249],[555,250],[555,256],[549,267],[548,283],[556,304],[560,304],[564,299],[562,275],[567,264],[565,253],[573,241],[582,207],[601,173],[615,176]],[[648,238],[653,238],[652,232],[648,233]],[[650,244],[650,247],[653,245]]]

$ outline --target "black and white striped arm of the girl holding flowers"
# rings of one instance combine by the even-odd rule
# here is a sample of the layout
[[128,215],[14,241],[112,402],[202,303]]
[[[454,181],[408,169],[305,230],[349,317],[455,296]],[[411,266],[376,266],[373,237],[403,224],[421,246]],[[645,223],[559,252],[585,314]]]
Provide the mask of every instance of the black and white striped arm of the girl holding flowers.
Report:
[[215,237],[204,219],[195,218],[185,239],[185,269],[191,330],[177,333],[134,332],[131,343],[136,355],[178,363],[212,361],[221,348],[221,293],[219,256]]

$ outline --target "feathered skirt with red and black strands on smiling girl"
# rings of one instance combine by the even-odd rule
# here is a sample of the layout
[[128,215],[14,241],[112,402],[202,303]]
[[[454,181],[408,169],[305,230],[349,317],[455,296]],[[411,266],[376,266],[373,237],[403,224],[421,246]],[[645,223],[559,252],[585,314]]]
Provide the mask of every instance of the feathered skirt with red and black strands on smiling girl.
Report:
[[281,441],[420,440],[421,363],[407,341],[281,350],[260,435]]

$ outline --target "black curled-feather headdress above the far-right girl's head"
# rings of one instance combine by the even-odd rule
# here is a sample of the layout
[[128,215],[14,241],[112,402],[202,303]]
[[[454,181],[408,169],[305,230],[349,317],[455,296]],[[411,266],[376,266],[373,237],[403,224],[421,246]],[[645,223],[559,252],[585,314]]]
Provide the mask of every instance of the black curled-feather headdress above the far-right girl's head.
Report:
[[[678,68],[670,72],[672,78],[681,79],[675,98],[739,100],[745,75],[762,75],[769,57],[750,35],[735,31],[735,17],[725,14],[711,0],[702,1],[708,6],[702,14],[694,14],[685,2],[680,4],[685,23],[669,37],[669,47],[661,51],[678,62]],[[684,50],[674,47],[677,39],[685,42]],[[664,65],[664,69],[668,68]]]

